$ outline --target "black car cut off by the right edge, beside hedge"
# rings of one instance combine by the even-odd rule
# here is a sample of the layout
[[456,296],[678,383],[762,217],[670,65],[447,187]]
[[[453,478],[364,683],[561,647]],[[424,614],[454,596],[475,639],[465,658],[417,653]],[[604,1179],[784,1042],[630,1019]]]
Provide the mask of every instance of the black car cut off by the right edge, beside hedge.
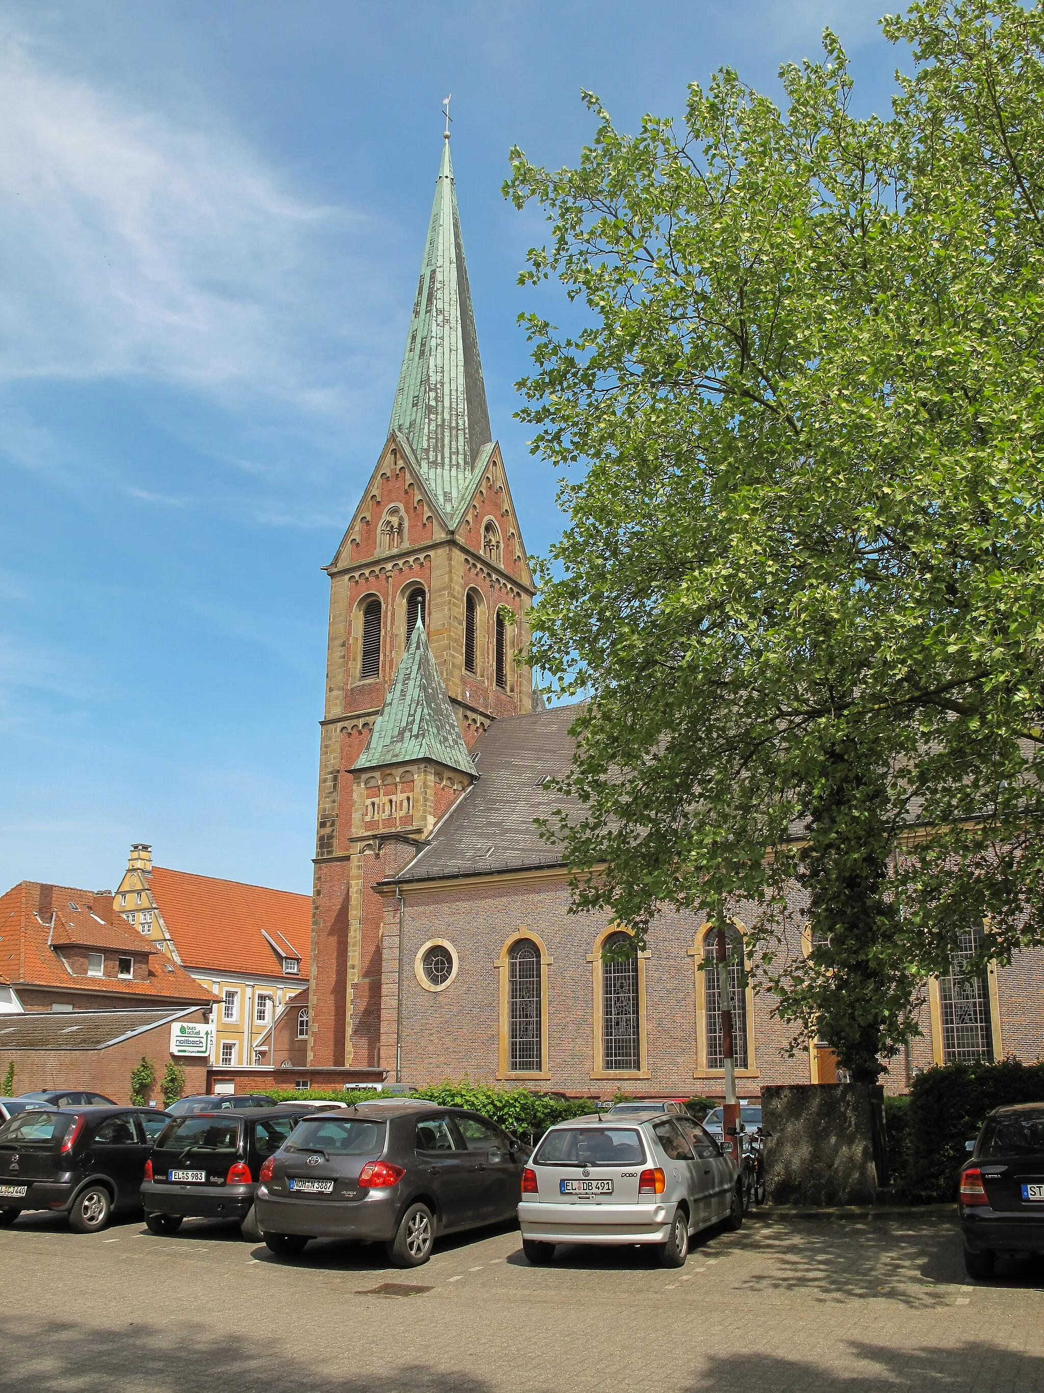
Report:
[[1044,1252],[1044,1103],[997,1107],[960,1170],[958,1215],[970,1277],[998,1252]]

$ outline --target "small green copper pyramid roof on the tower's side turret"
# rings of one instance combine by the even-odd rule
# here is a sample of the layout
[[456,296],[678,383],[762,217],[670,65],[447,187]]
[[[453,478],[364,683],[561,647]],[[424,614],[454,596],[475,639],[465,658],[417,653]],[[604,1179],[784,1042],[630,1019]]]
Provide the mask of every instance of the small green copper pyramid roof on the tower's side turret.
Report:
[[465,775],[476,772],[419,621],[366,748],[352,768],[376,769],[415,759],[433,759]]

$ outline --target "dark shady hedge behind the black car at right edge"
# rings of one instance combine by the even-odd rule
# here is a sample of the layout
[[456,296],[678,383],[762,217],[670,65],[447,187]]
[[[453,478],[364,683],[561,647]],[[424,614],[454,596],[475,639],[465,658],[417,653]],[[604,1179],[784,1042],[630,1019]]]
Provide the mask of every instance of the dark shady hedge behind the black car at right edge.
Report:
[[1044,1102],[1044,1063],[1006,1059],[999,1064],[941,1064],[926,1070],[913,1080],[909,1100],[887,1103],[889,1159],[894,1156],[898,1163],[892,1172],[895,1188],[915,1204],[956,1199],[956,1176],[967,1155],[965,1142],[979,1134],[987,1113],[1005,1103],[1040,1102]]

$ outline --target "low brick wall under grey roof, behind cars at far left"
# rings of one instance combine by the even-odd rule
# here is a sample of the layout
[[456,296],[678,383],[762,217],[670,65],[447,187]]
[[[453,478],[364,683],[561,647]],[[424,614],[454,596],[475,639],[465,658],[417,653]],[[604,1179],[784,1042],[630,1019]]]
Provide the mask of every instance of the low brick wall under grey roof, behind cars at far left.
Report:
[[[203,1013],[193,1011],[182,1017],[185,1021],[202,1021]],[[156,1082],[150,1098],[163,1106],[160,1081],[170,1053],[170,1022],[142,1031],[120,1045],[107,1049],[64,1049],[64,1050],[6,1050],[0,1043],[0,1075],[14,1061],[14,1092],[28,1094],[38,1088],[86,1088],[117,1103],[131,1102],[131,1071],[142,1055],[152,1060],[156,1068]],[[206,1059],[182,1059],[175,1063],[185,1070],[185,1092],[206,1092]]]

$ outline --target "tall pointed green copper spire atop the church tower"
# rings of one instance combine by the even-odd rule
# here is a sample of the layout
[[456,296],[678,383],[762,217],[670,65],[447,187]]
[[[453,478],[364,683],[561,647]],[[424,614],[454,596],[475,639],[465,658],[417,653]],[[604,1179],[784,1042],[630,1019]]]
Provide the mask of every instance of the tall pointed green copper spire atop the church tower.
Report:
[[491,437],[448,137],[390,429],[409,442],[436,506],[451,518]]

